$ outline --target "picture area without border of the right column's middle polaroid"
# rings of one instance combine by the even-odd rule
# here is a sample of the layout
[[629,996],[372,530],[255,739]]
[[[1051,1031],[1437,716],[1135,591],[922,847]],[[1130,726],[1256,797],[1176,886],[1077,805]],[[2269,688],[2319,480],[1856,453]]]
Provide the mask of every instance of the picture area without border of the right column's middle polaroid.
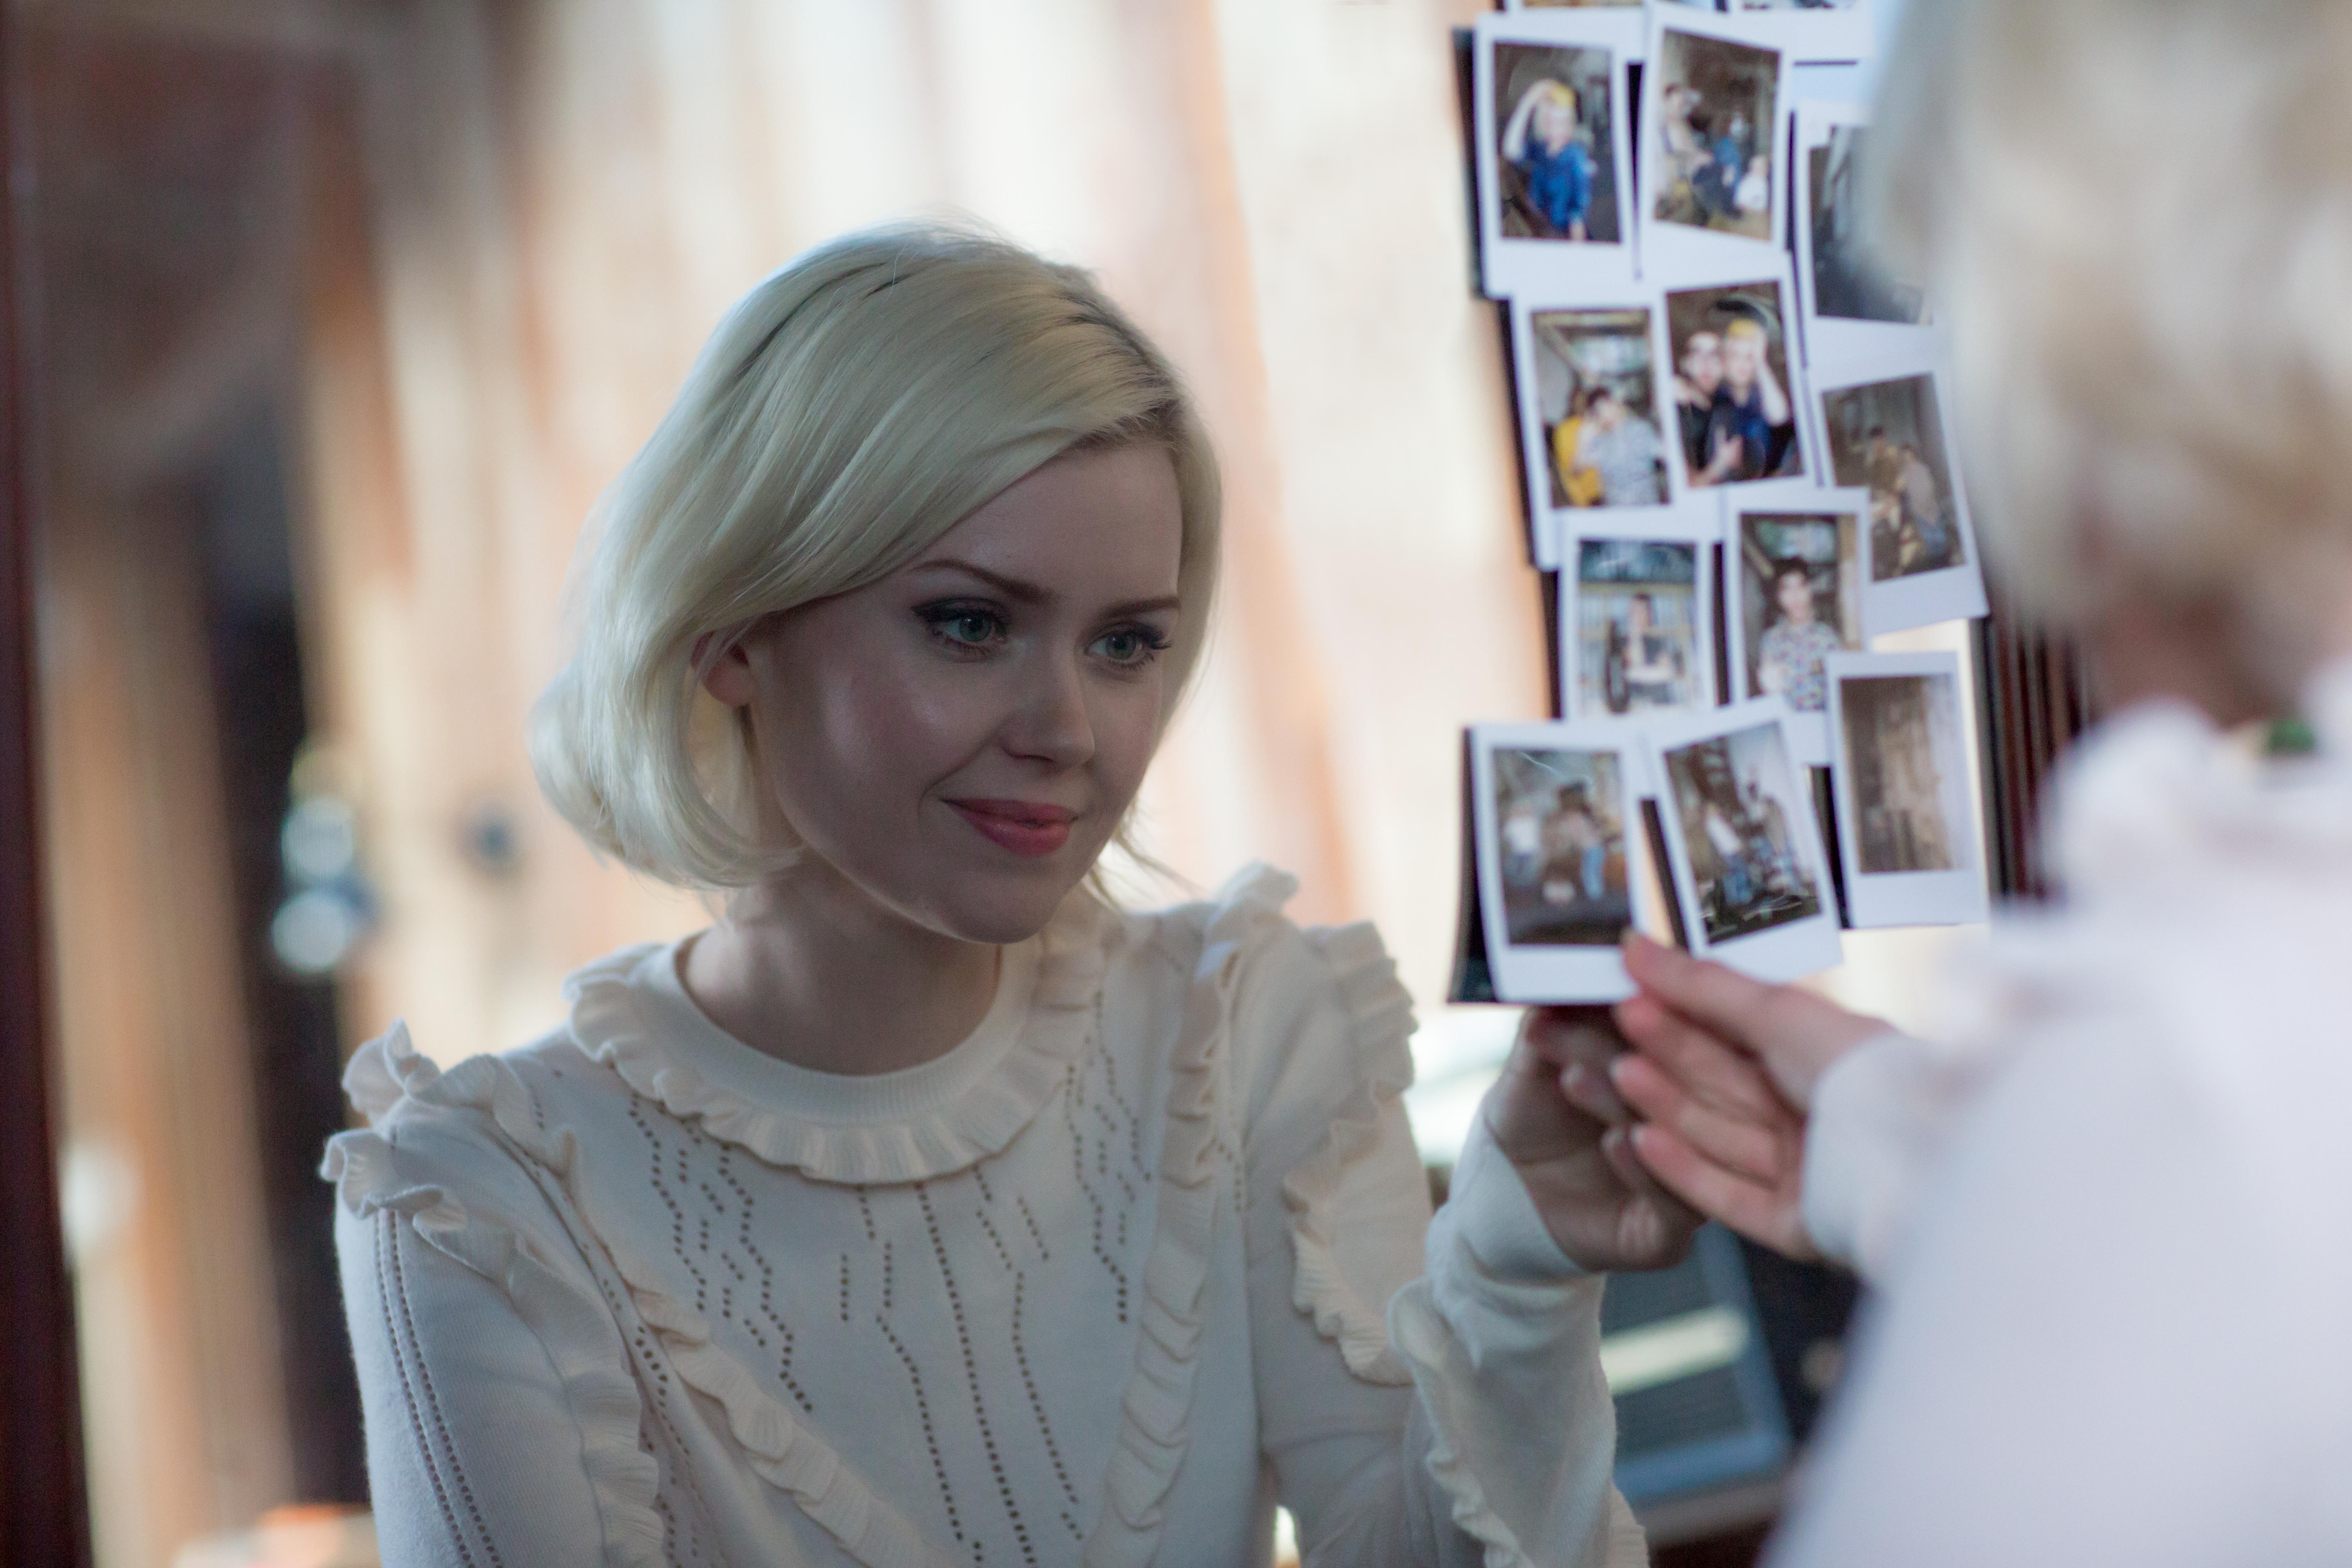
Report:
[[1825,393],[1820,423],[1839,484],[1870,489],[1870,581],[1966,564],[1933,376]]

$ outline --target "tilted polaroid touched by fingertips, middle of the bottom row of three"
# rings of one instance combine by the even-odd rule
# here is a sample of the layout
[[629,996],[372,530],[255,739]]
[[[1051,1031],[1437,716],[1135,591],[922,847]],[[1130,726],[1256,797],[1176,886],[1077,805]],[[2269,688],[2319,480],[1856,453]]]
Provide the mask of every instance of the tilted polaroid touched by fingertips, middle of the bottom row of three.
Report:
[[1646,724],[1691,952],[1759,980],[1832,969],[1837,889],[1780,698]]

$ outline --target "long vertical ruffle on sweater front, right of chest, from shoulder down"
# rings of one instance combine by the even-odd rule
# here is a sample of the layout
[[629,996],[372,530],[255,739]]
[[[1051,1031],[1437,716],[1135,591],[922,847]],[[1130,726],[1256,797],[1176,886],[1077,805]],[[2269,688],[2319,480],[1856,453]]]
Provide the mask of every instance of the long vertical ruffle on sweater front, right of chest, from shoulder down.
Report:
[[1127,1380],[1117,1448],[1103,1476],[1103,1512],[1087,1537],[1089,1568],[1141,1568],[1160,1547],[1167,1493],[1190,1441],[1202,1293],[1216,1220],[1225,1206],[1216,1180],[1216,1143],[1225,1112],[1218,1091],[1228,1077],[1232,994],[1244,950],[1282,919],[1282,903],[1296,889],[1291,877],[1254,865],[1218,891],[1207,914],[1200,961],[1176,1027],[1136,1366]]

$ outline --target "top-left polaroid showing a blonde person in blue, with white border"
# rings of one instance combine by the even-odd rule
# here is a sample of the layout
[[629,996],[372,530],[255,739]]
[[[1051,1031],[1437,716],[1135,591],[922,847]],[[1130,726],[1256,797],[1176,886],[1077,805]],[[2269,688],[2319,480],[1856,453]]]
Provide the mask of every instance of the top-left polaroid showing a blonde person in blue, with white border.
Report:
[[1632,287],[1623,31],[1566,12],[1477,21],[1472,134],[1491,299]]

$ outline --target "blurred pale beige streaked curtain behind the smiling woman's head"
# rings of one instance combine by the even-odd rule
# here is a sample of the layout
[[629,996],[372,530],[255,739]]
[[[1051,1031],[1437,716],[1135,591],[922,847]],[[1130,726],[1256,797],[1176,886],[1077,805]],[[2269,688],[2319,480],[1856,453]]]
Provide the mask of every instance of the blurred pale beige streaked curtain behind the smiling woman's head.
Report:
[[[1294,914],[1376,919],[1435,1001],[1458,729],[1543,708],[1508,381],[1468,287],[1449,28],[1475,9],[440,0],[379,35],[355,266],[381,331],[346,317],[315,362],[320,625],[388,900],[353,1034],[405,1013],[442,1060],[499,1048],[557,1016],[569,966],[703,919],[595,865],[532,788],[564,562],[720,310],[910,214],[1096,268],[1216,433],[1228,595],[1152,846],[1204,886],[1298,872]],[[456,853],[485,804],[522,823],[513,877]]]

